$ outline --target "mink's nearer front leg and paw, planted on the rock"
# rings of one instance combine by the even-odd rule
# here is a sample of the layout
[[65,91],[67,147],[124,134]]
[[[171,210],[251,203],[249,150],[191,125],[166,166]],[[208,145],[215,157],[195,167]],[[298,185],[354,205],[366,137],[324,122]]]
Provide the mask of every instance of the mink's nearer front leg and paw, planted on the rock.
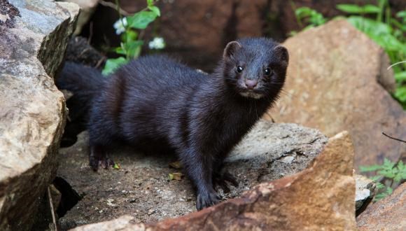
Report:
[[197,189],[197,210],[217,204],[220,197],[213,188],[213,158],[210,155],[199,153],[193,148],[188,148],[179,154],[186,169],[186,174],[188,174]]

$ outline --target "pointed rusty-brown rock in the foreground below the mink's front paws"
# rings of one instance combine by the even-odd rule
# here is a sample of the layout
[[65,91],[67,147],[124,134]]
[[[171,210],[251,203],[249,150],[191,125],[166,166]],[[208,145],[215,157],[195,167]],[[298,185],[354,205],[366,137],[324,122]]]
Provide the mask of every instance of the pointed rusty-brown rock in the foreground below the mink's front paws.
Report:
[[159,223],[123,217],[73,230],[356,230],[352,166],[351,139],[342,132],[304,171],[261,183],[241,198]]

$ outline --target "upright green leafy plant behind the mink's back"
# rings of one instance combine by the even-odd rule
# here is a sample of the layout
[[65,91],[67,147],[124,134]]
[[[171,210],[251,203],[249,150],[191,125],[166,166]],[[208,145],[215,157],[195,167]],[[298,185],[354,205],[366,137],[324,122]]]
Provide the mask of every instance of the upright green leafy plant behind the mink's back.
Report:
[[[153,0],[147,0],[146,3],[147,7],[134,13],[134,15],[127,17],[120,15],[120,20],[114,24],[116,34],[121,34],[121,43],[120,47],[113,48],[113,50],[120,57],[107,59],[102,71],[104,75],[113,73],[118,67],[126,64],[130,59],[139,57],[141,54],[141,48],[144,45],[144,41],[139,36],[141,30],[146,29],[151,22],[154,22],[161,15],[160,9],[154,5]],[[118,5],[118,1],[116,1],[116,4]]]

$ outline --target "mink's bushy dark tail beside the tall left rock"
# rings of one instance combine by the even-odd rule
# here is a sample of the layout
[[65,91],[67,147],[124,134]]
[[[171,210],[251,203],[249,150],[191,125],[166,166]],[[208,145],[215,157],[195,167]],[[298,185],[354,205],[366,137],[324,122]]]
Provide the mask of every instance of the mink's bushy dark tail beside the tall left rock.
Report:
[[86,130],[92,99],[101,92],[106,77],[92,67],[66,62],[56,85],[59,90],[68,90],[73,96],[66,100],[69,118],[66,123],[61,146],[71,146],[76,142],[76,135]]

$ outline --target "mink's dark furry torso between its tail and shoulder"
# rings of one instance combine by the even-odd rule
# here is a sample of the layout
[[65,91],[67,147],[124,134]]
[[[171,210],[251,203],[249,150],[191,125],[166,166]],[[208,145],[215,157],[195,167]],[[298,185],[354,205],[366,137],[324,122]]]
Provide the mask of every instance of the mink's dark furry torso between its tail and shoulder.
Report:
[[141,151],[174,150],[182,142],[182,114],[208,78],[162,55],[133,60],[109,76],[94,98],[90,141],[126,141]]

